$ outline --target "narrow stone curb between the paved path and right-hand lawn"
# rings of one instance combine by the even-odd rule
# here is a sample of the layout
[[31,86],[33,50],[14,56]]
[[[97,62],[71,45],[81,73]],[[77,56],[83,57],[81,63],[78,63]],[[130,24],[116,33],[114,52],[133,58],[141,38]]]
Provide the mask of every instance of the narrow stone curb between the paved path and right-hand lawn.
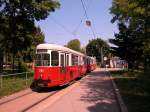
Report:
[[114,82],[114,79],[113,77],[111,76],[110,72],[107,71],[109,73],[109,76],[110,76],[110,79],[111,79],[111,82],[112,82],[112,86],[113,86],[113,89],[114,89],[114,92],[115,92],[115,97],[117,99],[117,103],[119,104],[119,108],[120,108],[120,111],[121,112],[128,112],[128,109],[120,95],[120,92],[119,92],[119,89],[117,88],[117,85],[116,83]]

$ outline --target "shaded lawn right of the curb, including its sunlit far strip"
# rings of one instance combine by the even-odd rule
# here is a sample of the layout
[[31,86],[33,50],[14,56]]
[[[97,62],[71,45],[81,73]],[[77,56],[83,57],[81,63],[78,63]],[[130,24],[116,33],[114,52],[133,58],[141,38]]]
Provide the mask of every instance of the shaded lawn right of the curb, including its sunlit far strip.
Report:
[[149,78],[145,78],[142,72],[118,71],[111,74],[129,112],[150,112]]

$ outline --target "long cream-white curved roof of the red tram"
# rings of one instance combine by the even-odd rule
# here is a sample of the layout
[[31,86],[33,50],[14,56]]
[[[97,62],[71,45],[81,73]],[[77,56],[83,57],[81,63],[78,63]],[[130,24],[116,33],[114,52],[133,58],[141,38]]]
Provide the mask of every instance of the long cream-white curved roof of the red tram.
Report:
[[84,54],[80,52],[74,51],[72,49],[57,44],[48,44],[48,43],[39,44],[37,45],[36,49],[50,49],[50,50],[65,51],[65,52],[70,52],[70,53],[84,56]]

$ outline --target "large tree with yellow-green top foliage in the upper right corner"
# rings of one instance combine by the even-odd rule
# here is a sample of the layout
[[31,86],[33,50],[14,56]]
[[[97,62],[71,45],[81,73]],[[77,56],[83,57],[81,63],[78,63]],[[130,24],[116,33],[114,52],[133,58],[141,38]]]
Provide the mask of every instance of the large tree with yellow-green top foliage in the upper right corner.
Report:
[[[132,56],[134,61],[142,62],[145,65],[145,68],[150,64],[150,2],[149,0],[113,0],[112,7],[110,9],[111,14],[113,15],[112,23],[117,22],[120,27],[123,24],[125,27],[123,29],[119,28],[119,33],[115,34],[116,39],[112,40],[114,44],[116,44],[116,40],[118,37],[119,43],[124,41],[124,43],[132,45],[132,51],[129,52],[128,55]],[[127,33],[123,33],[123,30],[128,30]],[[130,41],[129,41],[130,40]],[[124,47],[125,49],[129,49],[129,46],[123,44],[116,44],[118,49]],[[139,52],[140,51],[140,52]],[[142,52],[141,52],[142,51]],[[123,54],[126,54],[126,50],[122,50]],[[136,53],[134,53],[136,52]],[[138,58],[134,58],[135,54],[141,53],[137,55]],[[119,52],[118,52],[119,54]],[[125,57],[125,56],[122,56]]]

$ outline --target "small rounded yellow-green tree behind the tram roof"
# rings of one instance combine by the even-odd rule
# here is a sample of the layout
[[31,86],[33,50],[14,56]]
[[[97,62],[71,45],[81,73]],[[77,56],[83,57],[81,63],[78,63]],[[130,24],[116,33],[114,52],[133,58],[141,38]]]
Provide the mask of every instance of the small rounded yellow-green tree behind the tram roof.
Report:
[[68,48],[70,49],[73,49],[75,51],[81,51],[81,44],[80,44],[80,41],[78,39],[73,39],[73,40],[70,40],[67,45],[66,45]]

